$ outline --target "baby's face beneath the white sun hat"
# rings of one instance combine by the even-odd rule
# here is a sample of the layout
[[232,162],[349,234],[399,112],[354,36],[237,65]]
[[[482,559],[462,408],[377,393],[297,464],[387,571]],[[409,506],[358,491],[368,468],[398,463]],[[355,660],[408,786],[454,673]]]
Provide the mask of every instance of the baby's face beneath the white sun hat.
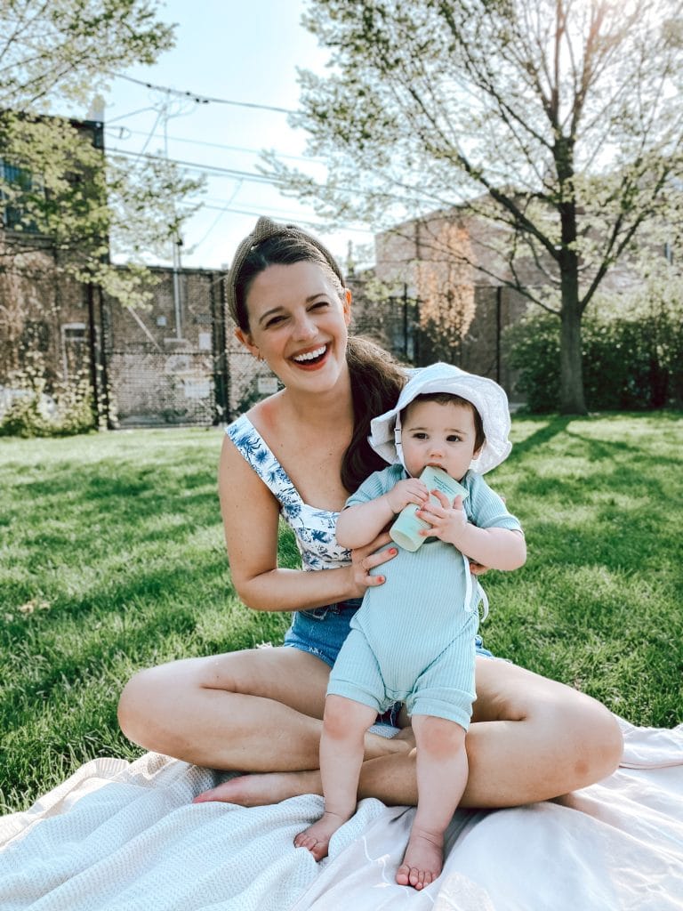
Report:
[[460,481],[472,462],[474,413],[463,404],[415,402],[408,405],[401,429],[403,462],[419,476],[426,466],[442,468]]

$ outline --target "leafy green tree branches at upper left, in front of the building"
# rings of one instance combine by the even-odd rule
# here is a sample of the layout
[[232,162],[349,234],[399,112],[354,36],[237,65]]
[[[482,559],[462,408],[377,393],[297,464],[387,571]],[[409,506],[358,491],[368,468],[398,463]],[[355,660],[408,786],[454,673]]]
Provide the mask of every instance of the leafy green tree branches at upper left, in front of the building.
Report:
[[[178,236],[199,181],[164,161],[139,169],[105,157],[94,124],[95,130],[49,116],[53,105],[92,101],[115,71],[151,64],[173,45],[173,29],[158,21],[157,6],[0,4],[0,215],[13,231],[13,242],[0,235],[0,271],[57,268],[129,302],[140,296],[142,254]],[[111,237],[123,239],[120,250],[138,268],[111,266]]]

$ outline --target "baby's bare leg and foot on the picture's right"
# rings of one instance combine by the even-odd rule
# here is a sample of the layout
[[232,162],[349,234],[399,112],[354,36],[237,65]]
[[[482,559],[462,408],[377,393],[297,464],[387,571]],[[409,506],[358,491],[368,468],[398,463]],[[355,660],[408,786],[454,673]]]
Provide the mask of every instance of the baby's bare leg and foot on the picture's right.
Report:
[[413,731],[417,746],[417,811],[396,882],[423,889],[441,873],[443,834],[467,783],[467,753],[464,729],[455,722],[413,715]]

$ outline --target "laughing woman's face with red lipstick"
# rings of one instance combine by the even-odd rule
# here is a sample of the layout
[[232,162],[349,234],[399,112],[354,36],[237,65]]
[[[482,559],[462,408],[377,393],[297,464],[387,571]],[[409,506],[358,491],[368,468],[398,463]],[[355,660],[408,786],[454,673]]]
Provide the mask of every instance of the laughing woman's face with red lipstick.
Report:
[[247,294],[250,331],[237,337],[286,386],[327,388],[346,372],[351,292],[343,302],[316,262],[269,266]]

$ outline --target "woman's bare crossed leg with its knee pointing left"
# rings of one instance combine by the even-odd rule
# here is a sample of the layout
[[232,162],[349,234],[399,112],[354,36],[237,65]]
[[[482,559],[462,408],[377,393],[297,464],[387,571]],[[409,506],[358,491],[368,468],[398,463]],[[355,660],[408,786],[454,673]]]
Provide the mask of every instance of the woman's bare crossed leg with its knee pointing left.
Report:
[[[209,768],[317,769],[329,672],[324,661],[292,648],[172,661],[127,683],[119,723],[147,750]],[[365,736],[366,758],[402,748]]]

